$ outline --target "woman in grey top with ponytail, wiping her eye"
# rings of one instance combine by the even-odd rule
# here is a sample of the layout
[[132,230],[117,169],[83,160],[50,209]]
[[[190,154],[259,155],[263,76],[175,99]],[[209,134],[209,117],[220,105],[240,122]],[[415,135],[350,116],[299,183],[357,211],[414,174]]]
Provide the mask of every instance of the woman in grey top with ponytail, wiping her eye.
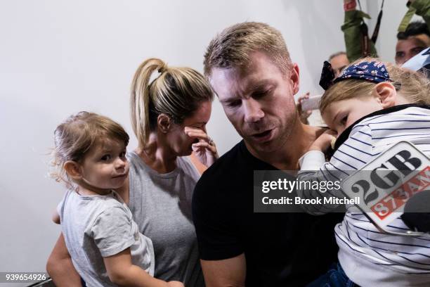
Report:
[[[213,94],[190,68],[145,60],[131,85],[131,124],[138,147],[129,153],[129,180],[119,195],[139,230],[154,245],[155,278],[204,286],[191,219],[191,198],[200,173],[188,158],[195,151],[206,167],[218,157],[206,133]],[[61,235],[47,269],[58,286],[79,286]],[[72,282],[75,282],[74,284]]]

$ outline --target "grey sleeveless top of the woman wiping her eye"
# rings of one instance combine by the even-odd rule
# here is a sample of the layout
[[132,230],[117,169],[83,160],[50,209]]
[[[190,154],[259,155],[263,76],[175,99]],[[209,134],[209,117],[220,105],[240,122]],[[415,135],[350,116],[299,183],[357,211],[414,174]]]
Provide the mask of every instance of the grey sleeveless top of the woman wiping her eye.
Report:
[[188,158],[178,157],[166,174],[152,170],[134,152],[130,163],[129,208],[139,230],[152,240],[155,278],[204,286],[191,218],[191,199],[200,174]]

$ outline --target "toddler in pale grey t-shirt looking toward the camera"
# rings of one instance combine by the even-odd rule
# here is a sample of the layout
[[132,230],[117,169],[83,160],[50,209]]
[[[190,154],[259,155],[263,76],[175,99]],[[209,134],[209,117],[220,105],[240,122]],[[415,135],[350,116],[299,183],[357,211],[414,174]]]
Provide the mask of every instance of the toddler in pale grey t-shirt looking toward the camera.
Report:
[[152,241],[113,191],[128,180],[129,136],[107,117],[80,112],[54,133],[54,166],[69,190],[58,205],[65,243],[87,286],[183,286],[152,277]]

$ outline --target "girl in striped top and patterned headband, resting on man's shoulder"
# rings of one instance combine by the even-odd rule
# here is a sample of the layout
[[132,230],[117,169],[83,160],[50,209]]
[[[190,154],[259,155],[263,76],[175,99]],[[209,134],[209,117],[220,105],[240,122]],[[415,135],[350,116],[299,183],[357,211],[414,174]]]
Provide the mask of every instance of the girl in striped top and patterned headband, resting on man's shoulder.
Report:
[[[417,72],[366,58],[351,64],[325,91],[320,102],[330,131],[322,134],[300,159],[299,181],[339,181],[360,170],[398,141],[410,141],[430,154],[428,80]],[[337,141],[330,162],[325,152]],[[337,196],[299,190],[299,196]],[[306,205],[314,215],[335,205]],[[354,206],[334,229],[339,245],[337,267],[309,286],[430,286],[430,237],[384,234]],[[398,218],[389,228],[408,230]],[[327,284],[327,285],[325,285]]]

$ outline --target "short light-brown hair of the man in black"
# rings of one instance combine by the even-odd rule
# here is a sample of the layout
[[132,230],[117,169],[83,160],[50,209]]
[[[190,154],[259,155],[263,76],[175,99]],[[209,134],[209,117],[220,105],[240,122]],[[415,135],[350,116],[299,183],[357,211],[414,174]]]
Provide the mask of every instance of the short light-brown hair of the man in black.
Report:
[[204,75],[209,77],[213,68],[246,67],[249,54],[266,53],[282,72],[292,68],[287,45],[275,28],[257,22],[238,23],[227,27],[209,43],[204,54]]

